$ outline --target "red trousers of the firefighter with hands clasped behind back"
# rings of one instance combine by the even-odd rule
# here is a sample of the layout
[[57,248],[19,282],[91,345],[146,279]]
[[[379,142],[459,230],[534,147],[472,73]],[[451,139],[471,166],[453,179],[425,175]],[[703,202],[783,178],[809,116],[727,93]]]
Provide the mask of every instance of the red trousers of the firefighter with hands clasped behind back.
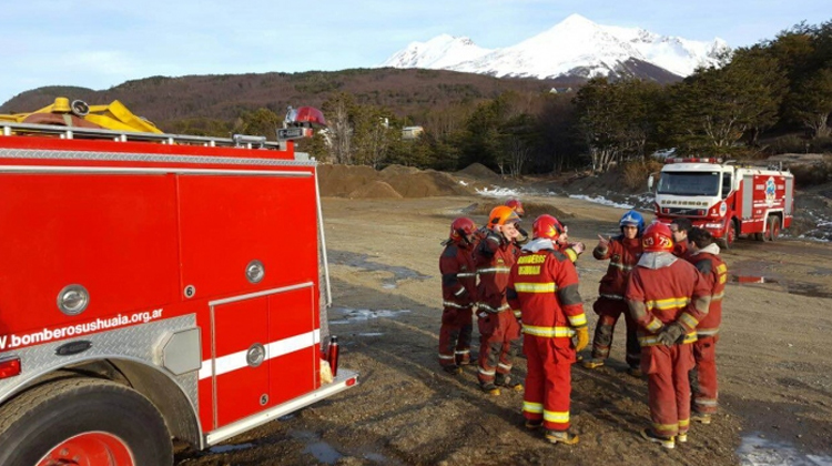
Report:
[[648,376],[647,393],[653,432],[662,437],[687,433],[690,427],[690,383],[693,367],[690,343],[641,348],[641,371]]

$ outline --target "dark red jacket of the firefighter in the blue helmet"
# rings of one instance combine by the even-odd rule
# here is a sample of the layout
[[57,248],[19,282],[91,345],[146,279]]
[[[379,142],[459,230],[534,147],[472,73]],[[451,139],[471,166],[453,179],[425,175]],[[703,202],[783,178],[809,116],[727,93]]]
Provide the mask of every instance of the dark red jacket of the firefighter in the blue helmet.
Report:
[[627,280],[641,257],[641,239],[628,240],[618,235],[610,240],[607,247],[597,245],[592,250],[592,256],[599,261],[609,259],[607,274],[601,278],[598,294],[610,300],[623,300]]

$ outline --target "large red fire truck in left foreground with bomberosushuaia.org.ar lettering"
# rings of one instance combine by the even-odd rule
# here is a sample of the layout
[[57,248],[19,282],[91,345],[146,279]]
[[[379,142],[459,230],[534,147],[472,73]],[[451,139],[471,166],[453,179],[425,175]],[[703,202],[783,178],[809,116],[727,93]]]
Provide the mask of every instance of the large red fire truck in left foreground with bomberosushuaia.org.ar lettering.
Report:
[[0,465],[169,466],[172,439],[356,385],[322,372],[316,164],[294,151],[325,121],[291,114],[276,143],[118,102],[0,116]]

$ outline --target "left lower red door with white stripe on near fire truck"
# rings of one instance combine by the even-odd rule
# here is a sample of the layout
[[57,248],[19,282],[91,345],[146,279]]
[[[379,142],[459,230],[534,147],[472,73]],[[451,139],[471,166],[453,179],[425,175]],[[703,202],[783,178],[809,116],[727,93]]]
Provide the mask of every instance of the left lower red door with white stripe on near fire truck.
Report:
[[212,307],[214,424],[224,426],[268,404],[268,298]]

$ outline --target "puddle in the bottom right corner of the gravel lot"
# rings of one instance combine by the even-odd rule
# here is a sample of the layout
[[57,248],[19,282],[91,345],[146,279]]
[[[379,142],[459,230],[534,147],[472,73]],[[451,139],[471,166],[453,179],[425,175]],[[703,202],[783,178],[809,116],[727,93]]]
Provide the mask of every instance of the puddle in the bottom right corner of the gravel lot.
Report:
[[737,455],[741,466],[832,466],[832,456],[810,455],[787,442],[763,438],[759,433],[743,436]]

